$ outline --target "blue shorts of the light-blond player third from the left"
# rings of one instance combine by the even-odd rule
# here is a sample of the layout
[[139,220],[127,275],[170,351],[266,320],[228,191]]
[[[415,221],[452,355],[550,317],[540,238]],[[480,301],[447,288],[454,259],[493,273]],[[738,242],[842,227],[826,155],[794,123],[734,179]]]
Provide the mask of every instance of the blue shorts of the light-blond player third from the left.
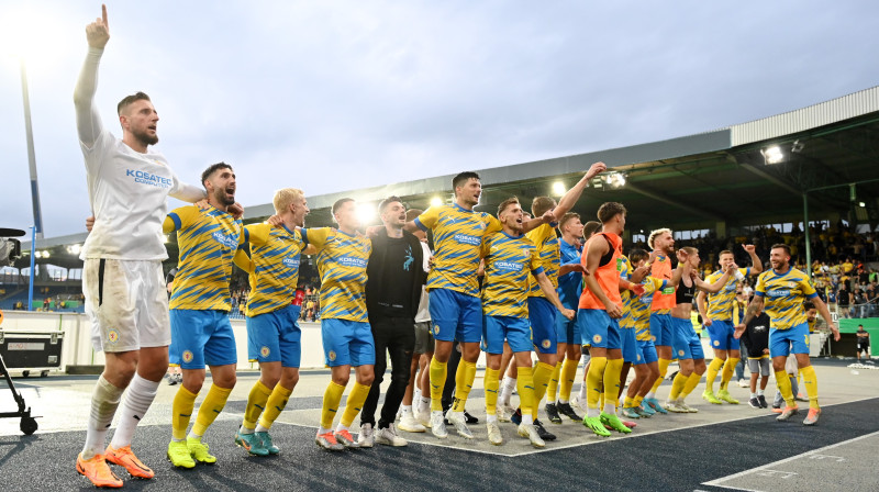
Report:
[[290,304],[270,313],[247,317],[247,358],[299,368],[302,356],[301,306]]

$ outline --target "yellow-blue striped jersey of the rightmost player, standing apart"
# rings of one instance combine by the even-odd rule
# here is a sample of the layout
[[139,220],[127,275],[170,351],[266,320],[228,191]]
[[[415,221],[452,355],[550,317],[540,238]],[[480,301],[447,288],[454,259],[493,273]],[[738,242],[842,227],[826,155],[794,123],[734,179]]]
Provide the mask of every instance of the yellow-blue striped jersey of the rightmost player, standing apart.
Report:
[[754,295],[764,298],[764,312],[776,329],[790,329],[806,322],[803,301],[817,292],[802,271],[790,267],[786,272],[775,269],[760,273]]

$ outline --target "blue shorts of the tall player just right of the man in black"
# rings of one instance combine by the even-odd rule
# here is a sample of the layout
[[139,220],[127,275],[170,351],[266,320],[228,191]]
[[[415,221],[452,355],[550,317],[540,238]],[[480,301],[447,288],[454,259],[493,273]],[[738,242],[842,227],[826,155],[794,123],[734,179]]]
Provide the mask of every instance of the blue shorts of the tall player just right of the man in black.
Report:
[[449,289],[431,289],[429,299],[434,338],[464,343],[482,339],[482,302],[479,298]]

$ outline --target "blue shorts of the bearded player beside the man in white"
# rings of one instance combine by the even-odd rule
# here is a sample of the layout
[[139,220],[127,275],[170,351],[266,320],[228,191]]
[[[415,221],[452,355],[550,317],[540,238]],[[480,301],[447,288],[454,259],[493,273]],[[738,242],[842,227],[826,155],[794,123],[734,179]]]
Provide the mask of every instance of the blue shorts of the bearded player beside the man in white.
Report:
[[168,361],[183,369],[238,364],[229,313],[215,310],[170,310]]

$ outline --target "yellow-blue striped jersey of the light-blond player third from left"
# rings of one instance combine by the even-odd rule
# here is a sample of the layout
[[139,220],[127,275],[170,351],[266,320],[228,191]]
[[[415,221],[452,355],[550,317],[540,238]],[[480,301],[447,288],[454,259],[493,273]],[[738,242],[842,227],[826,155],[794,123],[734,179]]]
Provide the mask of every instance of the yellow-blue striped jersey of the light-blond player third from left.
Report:
[[[251,243],[251,294],[247,315],[258,316],[287,308],[296,297],[302,234],[285,226],[251,224],[244,227]],[[241,266],[241,265],[240,265]]]

